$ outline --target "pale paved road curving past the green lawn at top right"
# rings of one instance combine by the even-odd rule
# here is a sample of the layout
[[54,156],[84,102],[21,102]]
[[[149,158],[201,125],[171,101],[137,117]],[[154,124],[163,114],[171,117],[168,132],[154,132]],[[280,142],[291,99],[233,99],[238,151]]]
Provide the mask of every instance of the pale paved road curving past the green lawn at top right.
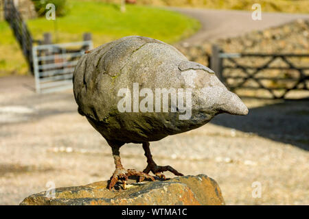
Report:
[[266,29],[288,23],[298,18],[309,19],[309,14],[284,14],[262,12],[262,21],[253,21],[252,12],[237,10],[207,10],[199,8],[172,8],[201,22],[201,29],[194,36],[183,40],[189,44],[213,41],[242,35],[248,31]]

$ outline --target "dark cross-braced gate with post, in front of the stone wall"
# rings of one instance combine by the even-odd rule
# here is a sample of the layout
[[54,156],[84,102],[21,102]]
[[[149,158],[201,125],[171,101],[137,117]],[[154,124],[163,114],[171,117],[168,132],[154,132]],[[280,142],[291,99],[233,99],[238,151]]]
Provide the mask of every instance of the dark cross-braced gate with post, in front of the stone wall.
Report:
[[214,45],[211,69],[229,90],[240,96],[309,97],[309,54],[224,53]]

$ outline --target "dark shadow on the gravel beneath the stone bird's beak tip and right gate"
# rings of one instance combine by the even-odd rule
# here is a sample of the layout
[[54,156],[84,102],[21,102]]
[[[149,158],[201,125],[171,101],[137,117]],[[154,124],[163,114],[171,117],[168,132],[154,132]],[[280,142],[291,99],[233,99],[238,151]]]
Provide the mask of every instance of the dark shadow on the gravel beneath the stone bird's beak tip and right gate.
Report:
[[309,101],[281,101],[249,109],[247,116],[220,114],[211,123],[309,151]]

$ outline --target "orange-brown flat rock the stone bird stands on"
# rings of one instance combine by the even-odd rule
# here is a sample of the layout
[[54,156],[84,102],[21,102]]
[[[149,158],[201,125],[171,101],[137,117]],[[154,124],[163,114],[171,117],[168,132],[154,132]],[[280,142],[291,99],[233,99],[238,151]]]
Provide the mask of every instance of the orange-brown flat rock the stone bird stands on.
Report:
[[55,198],[46,192],[28,196],[20,205],[224,205],[220,188],[206,175],[175,177],[166,181],[135,183],[129,179],[126,190],[121,185],[107,189],[108,181],[56,188]]

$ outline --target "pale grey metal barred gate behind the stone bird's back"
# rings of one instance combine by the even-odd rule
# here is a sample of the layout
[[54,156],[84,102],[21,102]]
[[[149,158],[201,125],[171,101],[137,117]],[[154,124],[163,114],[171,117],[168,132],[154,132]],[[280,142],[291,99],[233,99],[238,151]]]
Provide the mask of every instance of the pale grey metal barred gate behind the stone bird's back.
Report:
[[54,92],[72,88],[73,70],[92,41],[43,44],[32,47],[36,92]]

